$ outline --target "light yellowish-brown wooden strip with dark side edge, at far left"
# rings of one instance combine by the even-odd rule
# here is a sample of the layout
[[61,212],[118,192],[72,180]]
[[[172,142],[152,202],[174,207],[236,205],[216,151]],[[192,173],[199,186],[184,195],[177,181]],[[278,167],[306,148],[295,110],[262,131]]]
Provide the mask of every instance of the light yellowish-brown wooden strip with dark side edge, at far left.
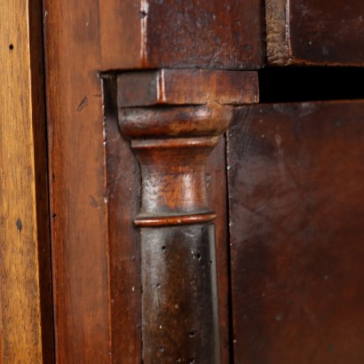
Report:
[[51,363],[41,4],[0,14],[0,362]]

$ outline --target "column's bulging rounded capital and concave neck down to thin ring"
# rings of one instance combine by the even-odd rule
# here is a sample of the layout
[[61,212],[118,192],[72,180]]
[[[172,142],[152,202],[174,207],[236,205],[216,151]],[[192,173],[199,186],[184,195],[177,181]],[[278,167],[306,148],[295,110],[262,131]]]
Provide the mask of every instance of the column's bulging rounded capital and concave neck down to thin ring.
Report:
[[232,107],[219,104],[203,110],[188,106],[120,110],[121,131],[131,138],[131,148],[141,166],[142,199],[137,225],[145,226],[142,222],[151,218],[166,218],[164,225],[170,225],[168,219],[172,217],[180,218],[175,225],[186,224],[188,216],[209,216],[212,211],[205,165],[218,144],[218,134],[227,129],[231,118]]

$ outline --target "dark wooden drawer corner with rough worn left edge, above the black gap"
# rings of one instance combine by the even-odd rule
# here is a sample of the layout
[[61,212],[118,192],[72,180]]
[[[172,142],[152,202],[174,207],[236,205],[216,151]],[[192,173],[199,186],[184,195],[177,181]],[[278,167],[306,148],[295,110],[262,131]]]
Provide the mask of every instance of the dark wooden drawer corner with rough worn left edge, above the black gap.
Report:
[[267,60],[363,65],[364,1],[265,0]]

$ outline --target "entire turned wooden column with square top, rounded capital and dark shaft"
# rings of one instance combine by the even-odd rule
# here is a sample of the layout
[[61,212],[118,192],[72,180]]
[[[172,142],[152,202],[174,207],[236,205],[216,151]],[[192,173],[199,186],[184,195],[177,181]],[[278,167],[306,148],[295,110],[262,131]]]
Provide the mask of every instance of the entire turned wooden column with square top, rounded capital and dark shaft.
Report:
[[254,73],[207,70],[118,78],[119,124],[142,176],[135,225],[141,233],[145,364],[221,362],[216,214],[205,164],[232,119],[227,104],[251,102],[255,81]]

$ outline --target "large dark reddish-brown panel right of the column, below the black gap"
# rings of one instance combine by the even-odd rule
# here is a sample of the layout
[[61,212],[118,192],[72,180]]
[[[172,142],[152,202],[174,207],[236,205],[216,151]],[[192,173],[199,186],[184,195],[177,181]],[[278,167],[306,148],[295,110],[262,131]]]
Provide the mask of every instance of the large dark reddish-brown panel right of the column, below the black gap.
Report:
[[238,108],[228,133],[236,363],[364,361],[364,101]]

